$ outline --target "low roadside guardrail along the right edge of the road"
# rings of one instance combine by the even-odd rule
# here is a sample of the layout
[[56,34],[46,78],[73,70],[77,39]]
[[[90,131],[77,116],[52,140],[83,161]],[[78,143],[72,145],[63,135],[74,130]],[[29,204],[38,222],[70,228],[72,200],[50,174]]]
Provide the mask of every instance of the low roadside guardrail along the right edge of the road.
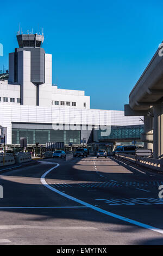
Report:
[[126,159],[130,162],[145,166],[152,170],[163,171],[163,159],[137,157],[132,154],[123,154],[123,153],[115,153],[115,156],[120,157],[121,159]]

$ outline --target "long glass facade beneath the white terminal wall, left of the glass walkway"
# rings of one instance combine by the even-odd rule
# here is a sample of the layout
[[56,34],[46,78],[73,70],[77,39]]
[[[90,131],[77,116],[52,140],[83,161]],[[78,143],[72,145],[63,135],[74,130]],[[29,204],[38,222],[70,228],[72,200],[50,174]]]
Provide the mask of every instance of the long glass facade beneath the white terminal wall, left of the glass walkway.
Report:
[[20,144],[20,138],[27,138],[27,144],[46,144],[46,142],[65,142],[80,144],[80,130],[43,130],[43,129],[12,129],[12,144]]

